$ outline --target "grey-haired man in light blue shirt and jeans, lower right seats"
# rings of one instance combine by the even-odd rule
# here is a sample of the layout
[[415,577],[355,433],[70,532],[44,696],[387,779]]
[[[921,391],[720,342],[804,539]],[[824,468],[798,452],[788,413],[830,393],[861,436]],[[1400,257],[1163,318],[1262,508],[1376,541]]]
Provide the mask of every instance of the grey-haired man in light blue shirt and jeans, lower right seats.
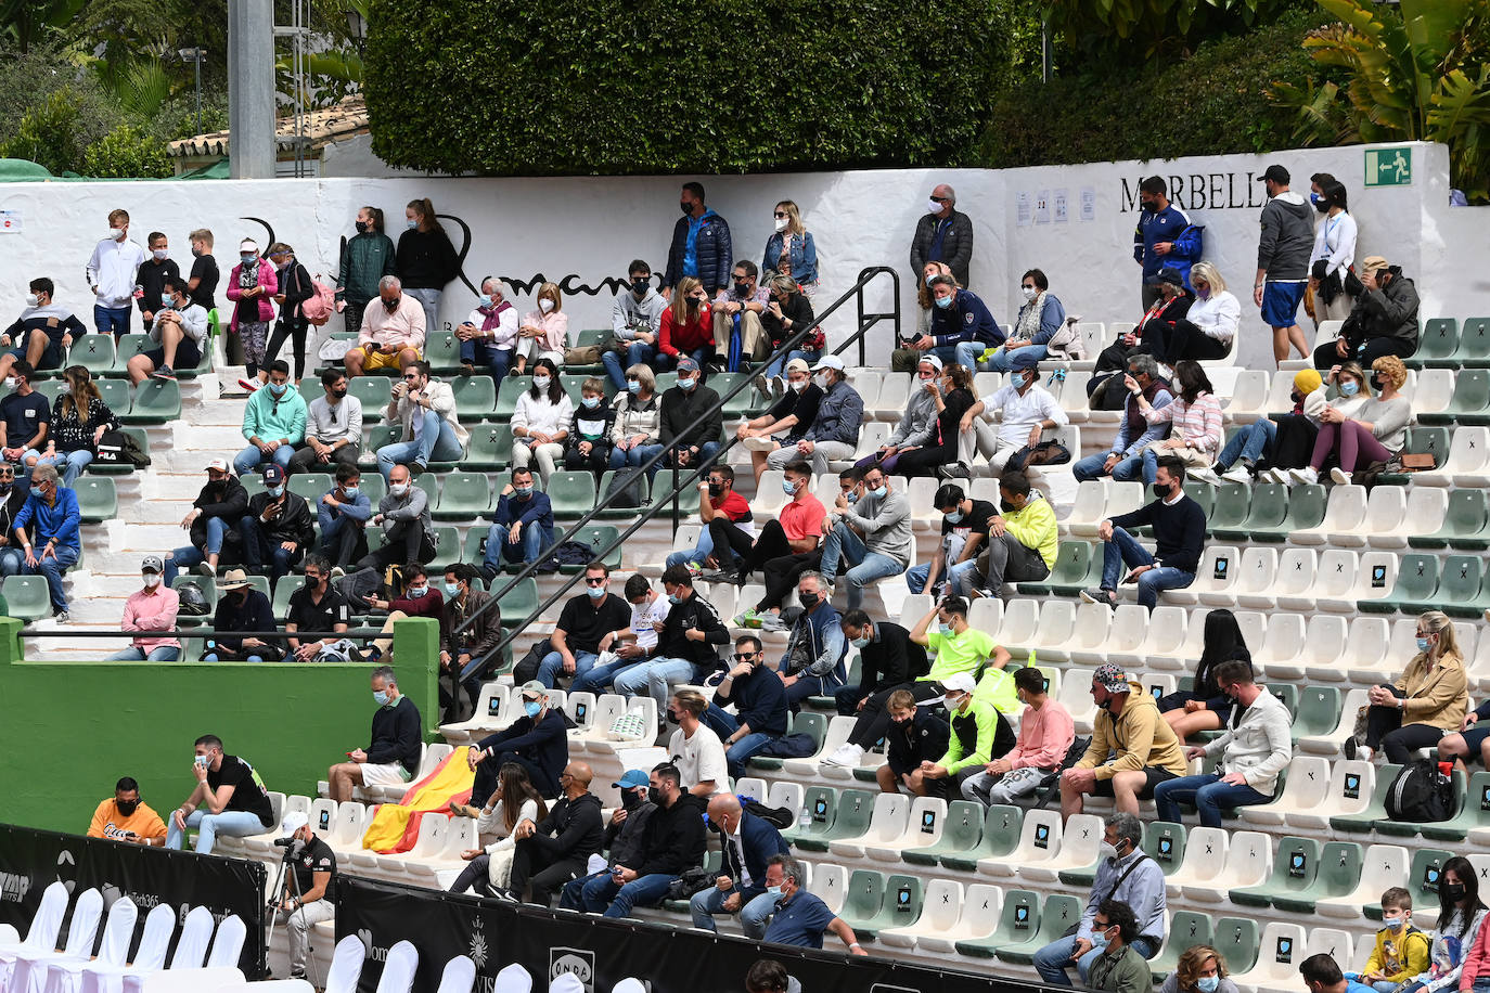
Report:
[[[1164,944],[1168,901],[1164,869],[1141,847],[1143,823],[1137,814],[1116,813],[1103,820],[1101,855],[1086,908],[1074,935],[1056,938],[1034,953],[1034,968],[1047,986],[1071,986],[1067,968],[1073,963],[1083,986],[1094,984],[1094,966],[1115,944],[1115,920],[1122,920],[1122,947],[1132,953],[1128,966],[1144,966],[1143,983],[1125,993],[1149,993],[1152,980],[1146,959],[1153,959]],[[1122,907],[1113,914],[1113,905]],[[1109,963],[1109,969],[1112,965]]]

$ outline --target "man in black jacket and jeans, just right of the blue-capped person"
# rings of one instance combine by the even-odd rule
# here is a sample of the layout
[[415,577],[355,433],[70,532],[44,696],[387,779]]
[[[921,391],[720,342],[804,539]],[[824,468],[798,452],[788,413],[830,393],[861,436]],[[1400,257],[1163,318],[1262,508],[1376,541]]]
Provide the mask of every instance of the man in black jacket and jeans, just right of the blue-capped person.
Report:
[[636,905],[653,905],[684,871],[703,865],[706,804],[682,789],[676,765],[659,765],[650,777],[657,813],[647,823],[647,841],[636,865],[611,859],[611,874],[586,883],[584,910],[606,917],[630,917]]

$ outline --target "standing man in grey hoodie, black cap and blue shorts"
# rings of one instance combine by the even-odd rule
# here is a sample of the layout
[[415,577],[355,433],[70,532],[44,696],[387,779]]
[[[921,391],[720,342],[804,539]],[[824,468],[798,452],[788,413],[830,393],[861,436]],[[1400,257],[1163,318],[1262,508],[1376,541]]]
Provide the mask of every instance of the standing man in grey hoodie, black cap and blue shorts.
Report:
[[1308,201],[1289,189],[1289,171],[1272,164],[1262,174],[1268,202],[1262,207],[1262,237],[1258,238],[1258,278],[1252,299],[1262,320],[1272,328],[1272,359],[1289,357],[1289,345],[1310,357],[1304,331],[1298,326],[1299,301],[1308,284],[1308,259],[1314,250],[1314,217]]

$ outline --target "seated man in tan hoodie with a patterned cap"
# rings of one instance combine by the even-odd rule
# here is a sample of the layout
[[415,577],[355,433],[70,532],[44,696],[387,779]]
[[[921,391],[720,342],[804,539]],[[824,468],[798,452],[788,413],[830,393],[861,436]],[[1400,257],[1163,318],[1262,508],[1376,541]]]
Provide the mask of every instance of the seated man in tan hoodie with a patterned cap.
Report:
[[1186,771],[1180,738],[1137,680],[1104,662],[1092,674],[1092,743],[1061,773],[1062,820],[1082,813],[1086,794],[1112,796],[1119,811],[1137,814],[1138,801],[1150,799],[1155,786]]

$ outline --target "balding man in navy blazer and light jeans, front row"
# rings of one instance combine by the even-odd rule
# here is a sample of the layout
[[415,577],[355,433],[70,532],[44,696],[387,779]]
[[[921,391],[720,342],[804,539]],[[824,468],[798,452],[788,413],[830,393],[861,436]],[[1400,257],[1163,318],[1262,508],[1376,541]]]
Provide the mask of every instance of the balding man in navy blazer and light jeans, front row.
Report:
[[688,902],[693,926],[714,930],[714,914],[739,914],[745,936],[758,939],[776,910],[776,895],[766,892],[766,862],[790,855],[790,846],[775,825],[745,813],[733,794],[709,801],[709,826],[720,832],[720,874]]

